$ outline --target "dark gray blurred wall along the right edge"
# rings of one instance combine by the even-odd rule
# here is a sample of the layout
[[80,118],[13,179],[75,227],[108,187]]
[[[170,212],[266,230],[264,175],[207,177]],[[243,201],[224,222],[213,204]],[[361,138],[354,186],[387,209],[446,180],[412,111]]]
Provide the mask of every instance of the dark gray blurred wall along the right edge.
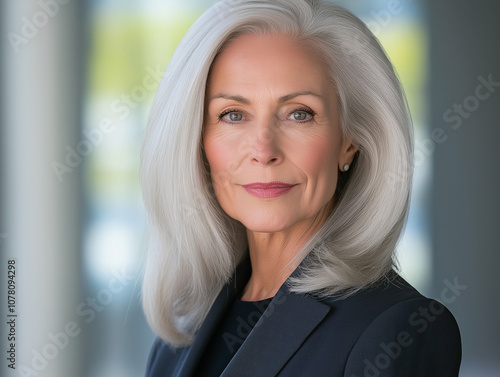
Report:
[[[498,376],[500,2],[428,0],[427,6],[434,295],[445,297],[455,279],[462,286],[445,292],[463,337],[461,375]],[[496,84],[487,88],[489,78]]]

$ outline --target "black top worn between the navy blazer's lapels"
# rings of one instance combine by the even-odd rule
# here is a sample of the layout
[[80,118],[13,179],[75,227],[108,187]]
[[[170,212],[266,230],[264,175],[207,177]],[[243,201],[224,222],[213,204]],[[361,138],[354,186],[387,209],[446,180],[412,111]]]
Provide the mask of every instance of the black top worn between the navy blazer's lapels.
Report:
[[261,301],[234,300],[208,343],[195,375],[219,377],[271,301],[272,298]]

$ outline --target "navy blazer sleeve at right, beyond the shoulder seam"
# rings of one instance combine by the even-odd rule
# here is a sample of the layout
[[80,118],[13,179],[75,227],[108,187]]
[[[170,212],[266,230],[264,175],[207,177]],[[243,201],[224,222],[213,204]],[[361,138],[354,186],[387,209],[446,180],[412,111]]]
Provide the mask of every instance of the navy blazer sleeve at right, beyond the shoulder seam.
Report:
[[456,377],[461,357],[453,315],[438,301],[418,297],[374,318],[352,348],[345,376]]

